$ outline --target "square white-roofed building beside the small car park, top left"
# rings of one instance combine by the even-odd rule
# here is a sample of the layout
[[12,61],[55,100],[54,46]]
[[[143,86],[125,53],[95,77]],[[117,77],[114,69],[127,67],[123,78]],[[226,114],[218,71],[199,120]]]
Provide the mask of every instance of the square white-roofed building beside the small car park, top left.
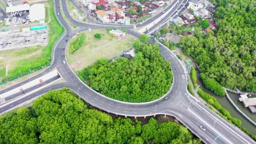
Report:
[[44,23],[45,21],[45,5],[44,4],[34,4],[30,7],[29,19],[31,22],[40,21]]

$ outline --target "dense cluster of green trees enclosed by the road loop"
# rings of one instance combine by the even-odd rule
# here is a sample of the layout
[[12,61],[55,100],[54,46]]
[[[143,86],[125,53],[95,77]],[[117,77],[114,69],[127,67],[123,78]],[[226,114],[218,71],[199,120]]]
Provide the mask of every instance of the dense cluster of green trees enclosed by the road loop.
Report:
[[146,35],[139,38],[131,60],[100,59],[81,70],[80,78],[94,90],[120,101],[146,102],[163,96],[171,88],[171,63],[161,56],[157,43],[148,44]]

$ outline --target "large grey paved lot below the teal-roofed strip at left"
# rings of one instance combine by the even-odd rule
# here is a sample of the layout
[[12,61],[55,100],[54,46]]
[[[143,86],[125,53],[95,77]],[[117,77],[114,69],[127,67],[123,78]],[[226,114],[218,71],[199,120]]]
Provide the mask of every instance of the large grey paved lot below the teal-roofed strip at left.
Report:
[[12,48],[22,48],[33,45],[47,44],[47,29],[33,30],[27,32],[12,32],[0,34],[0,51]]

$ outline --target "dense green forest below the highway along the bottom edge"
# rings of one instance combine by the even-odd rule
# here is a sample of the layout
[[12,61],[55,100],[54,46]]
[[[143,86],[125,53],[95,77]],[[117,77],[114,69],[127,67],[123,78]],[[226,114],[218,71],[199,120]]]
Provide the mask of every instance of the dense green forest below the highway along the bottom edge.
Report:
[[173,122],[145,125],[129,118],[113,119],[88,109],[69,89],[50,91],[32,104],[0,116],[0,144],[200,144],[187,128]]

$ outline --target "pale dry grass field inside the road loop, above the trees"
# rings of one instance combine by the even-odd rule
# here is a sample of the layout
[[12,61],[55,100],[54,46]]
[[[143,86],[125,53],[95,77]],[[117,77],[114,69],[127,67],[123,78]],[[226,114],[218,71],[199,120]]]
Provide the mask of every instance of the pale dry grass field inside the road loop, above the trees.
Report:
[[[79,48],[75,54],[67,55],[67,61],[73,70],[80,70],[93,64],[96,60],[115,56],[117,53],[130,48],[136,37],[125,35],[125,37],[115,37],[107,33],[106,29],[93,29],[91,32],[83,32],[85,35],[84,44]],[[100,33],[101,40],[96,40],[94,34]],[[70,43],[76,38],[73,38],[68,43],[66,53],[68,54]]]

